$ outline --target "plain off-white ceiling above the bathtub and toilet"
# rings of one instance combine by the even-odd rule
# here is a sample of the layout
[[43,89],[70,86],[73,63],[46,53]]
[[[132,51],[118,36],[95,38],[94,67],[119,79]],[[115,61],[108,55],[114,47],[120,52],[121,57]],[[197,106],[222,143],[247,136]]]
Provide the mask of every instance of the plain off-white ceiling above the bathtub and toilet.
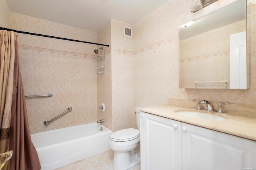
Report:
[[135,25],[168,0],[6,0],[10,12],[98,33],[110,19]]

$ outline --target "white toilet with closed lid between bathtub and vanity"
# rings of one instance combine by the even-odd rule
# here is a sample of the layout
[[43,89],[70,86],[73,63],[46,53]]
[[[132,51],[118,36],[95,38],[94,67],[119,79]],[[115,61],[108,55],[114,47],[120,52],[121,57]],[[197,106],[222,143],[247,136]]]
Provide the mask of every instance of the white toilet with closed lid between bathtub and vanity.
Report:
[[135,108],[138,129],[126,128],[110,135],[110,148],[114,150],[113,170],[127,170],[140,163],[140,108]]

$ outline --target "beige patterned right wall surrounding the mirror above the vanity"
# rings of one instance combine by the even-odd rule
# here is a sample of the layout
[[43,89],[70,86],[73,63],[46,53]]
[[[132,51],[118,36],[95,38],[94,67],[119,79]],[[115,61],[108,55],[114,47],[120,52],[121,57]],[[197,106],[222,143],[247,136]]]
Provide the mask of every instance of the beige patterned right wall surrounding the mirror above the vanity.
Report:
[[190,1],[170,0],[134,26],[134,107],[166,104],[168,97],[255,105],[255,4],[250,9],[250,89],[179,88],[178,26],[231,2],[219,0],[192,13]]

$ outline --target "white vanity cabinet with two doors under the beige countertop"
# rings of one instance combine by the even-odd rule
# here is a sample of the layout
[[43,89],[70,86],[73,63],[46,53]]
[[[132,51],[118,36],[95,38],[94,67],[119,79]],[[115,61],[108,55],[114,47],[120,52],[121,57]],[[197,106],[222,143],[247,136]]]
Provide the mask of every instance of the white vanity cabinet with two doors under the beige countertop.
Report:
[[256,142],[141,113],[142,170],[256,169]]

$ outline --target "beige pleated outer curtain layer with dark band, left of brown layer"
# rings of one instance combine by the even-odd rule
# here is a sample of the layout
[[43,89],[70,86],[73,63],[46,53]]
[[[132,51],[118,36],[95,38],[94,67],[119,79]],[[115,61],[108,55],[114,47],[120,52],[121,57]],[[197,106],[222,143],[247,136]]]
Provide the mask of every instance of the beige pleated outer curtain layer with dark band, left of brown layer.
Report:
[[[0,153],[9,148],[16,36],[0,30]],[[8,162],[9,163],[9,162]],[[6,163],[3,169],[8,169]]]

